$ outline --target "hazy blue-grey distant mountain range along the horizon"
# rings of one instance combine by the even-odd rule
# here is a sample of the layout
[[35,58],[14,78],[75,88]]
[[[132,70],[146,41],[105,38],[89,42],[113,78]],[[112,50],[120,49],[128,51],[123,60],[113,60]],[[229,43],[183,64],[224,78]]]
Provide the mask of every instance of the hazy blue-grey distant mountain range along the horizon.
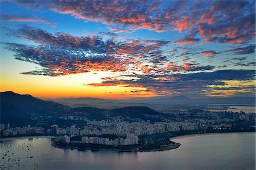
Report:
[[187,96],[156,96],[138,97],[123,100],[98,99],[91,97],[61,99],[58,103],[69,107],[97,107],[97,108],[122,108],[130,106],[144,106],[157,108],[159,105],[208,105],[208,104],[255,104],[255,97],[209,97],[209,98],[189,98]]

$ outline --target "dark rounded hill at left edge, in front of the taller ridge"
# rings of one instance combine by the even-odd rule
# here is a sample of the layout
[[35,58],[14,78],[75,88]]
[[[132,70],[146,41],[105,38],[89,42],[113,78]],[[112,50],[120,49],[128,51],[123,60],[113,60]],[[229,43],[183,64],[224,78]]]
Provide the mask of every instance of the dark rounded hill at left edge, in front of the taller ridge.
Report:
[[0,115],[1,124],[10,123],[10,125],[14,127],[33,124],[29,114],[21,111],[18,107],[9,102],[1,102]]

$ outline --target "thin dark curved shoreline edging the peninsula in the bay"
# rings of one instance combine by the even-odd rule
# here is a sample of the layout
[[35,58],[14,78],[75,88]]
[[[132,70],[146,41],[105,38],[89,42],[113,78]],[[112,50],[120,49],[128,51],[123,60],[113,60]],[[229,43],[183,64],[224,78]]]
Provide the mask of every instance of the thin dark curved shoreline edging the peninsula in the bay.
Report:
[[175,148],[180,147],[180,143],[174,143],[172,146],[164,147],[164,148],[155,148],[151,150],[138,150],[138,149],[131,149],[131,150],[121,150],[121,149],[92,149],[92,148],[78,148],[78,147],[64,147],[64,146],[57,146],[54,142],[51,143],[51,146],[56,148],[63,148],[63,149],[71,149],[71,150],[78,150],[78,151],[84,151],[84,150],[90,150],[90,151],[117,151],[117,152],[155,152],[155,151],[166,151],[166,150],[172,150]]

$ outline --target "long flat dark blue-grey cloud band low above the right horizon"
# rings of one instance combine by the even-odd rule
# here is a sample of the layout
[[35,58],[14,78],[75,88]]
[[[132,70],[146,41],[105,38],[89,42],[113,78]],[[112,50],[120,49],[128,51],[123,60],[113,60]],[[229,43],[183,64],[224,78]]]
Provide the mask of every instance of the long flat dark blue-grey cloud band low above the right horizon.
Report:
[[[137,76],[137,78],[139,79],[120,80],[114,76],[104,79],[102,83],[92,83],[88,84],[88,86],[121,85],[133,88],[144,87],[146,88],[145,91],[159,95],[204,94],[205,91],[208,94],[210,90],[213,90],[209,86],[225,86],[227,80],[255,80],[255,70],[218,70],[209,73],[143,75]],[[228,90],[226,88],[226,91]],[[255,87],[251,88],[251,90],[255,90]]]

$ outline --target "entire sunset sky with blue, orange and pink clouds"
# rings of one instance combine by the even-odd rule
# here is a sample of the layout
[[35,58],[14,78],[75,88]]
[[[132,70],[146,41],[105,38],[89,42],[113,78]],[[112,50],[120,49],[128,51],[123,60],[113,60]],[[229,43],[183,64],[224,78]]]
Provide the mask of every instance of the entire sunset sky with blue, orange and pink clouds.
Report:
[[255,96],[255,1],[1,1],[0,91]]

